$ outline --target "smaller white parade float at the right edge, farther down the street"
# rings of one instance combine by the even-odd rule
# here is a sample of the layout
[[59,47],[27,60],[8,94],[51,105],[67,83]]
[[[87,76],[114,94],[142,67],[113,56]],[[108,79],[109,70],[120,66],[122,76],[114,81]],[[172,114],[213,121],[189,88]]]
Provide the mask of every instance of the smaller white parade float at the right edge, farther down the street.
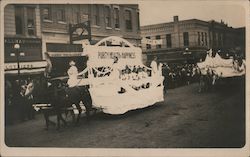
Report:
[[[240,63],[241,62],[241,63]],[[201,72],[211,69],[219,78],[229,78],[244,76],[246,72],[245,60],[223,59],[218,53],[212,56],[212,50],[209,50],[203,62],[197,63]],[[206,73],[206,72],[204,72]]]

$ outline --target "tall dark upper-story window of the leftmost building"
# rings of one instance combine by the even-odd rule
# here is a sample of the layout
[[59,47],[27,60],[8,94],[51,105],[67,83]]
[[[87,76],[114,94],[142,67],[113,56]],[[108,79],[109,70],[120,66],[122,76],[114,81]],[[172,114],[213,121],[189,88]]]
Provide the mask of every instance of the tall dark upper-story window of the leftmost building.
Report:
[[15,27],[17,35],[36,35],[35,8],[16,6]]

